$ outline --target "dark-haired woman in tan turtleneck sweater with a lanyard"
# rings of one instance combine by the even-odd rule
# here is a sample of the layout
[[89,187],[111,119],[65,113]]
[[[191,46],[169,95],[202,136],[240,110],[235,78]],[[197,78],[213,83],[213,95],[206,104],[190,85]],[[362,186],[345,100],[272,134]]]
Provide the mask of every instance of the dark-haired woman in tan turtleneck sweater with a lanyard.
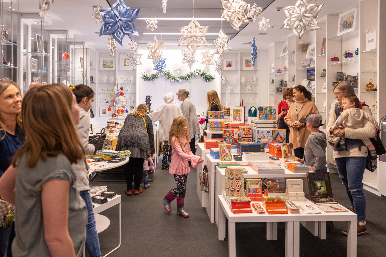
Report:
[[295,156],[303,159],[304,146],[307,142],[310,131],[304,123],[300,123],[301,118],[306,118],[309,113],[319,113],[316,105],[311,102],[312,94],[303,86],[293,88],[293,98],[296,103],[289,106],[288,113],[284,122],[289,127],[289,143],[293,144]]

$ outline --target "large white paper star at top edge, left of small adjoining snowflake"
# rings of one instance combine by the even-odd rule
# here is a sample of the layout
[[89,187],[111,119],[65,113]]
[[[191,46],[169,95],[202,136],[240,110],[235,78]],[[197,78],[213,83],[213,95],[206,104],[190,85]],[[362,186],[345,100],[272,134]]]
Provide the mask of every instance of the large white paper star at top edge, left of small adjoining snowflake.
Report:
[[246,15],[249,3],[241,0],[221,0],[221,2],[224,8],[221,18],[230,22],[235,30],[239,30],[240,25],[249,23]]

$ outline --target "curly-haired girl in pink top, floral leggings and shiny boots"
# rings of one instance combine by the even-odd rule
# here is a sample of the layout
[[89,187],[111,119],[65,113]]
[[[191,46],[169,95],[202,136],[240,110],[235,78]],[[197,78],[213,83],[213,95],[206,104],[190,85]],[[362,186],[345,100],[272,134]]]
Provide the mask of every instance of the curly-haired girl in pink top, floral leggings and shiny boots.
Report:
[[193,155],[190,150],[188,131],[188,120],[185,117],[174,118],[169,131],[168,144],[172,147],[169,173],[173,174],[177,187],[162,198],[166,212],[171,212],[170,202],[177,198],[177,214],[185,218],[189,217],[189,213],[184,210],[186,180],[190,172],[188,161],[193,168],[203,162],[200,156]]

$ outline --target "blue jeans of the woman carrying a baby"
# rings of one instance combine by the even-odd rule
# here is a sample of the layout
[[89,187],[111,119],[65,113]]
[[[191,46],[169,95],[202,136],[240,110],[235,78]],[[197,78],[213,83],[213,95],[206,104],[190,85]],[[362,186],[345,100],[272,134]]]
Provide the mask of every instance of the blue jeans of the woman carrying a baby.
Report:
[[351,207],[354,207],[358,215],[358,222],[364,222],[366,218],[366,199],[362,190],[366,158],[360,156],[335,158],[339,177],[349,196]]

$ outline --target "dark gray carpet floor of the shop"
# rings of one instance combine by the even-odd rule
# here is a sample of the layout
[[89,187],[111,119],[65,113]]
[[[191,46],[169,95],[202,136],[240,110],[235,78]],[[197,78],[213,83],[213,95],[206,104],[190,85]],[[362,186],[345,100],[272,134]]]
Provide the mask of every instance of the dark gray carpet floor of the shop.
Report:
[[[348,197],[338,175],[330,176],[335,200],[349,207]],[[120,175],[120,177],[123,176]],[[196,193],[196,169],[191,169],[188,175],[185,210],[190,214],[189,218],[176,214],[176,201],[172,203],[171,213],[164,210],[162,197],[176,184],[173,175],[161,170],[161,165],[157,165],[155,181],[150,182],[151,187],[143,189],[143,193],[138,196],[125,195],[125,183],[92,182],[91,184],[108,185],[108,190],[122,195],[122,244],[109,256],[228,256],[228,238],[218,241],[216,224],[210,223],[205,208],[200,206]],[[367,202],[368,234],[357,238],[357,256],[385,256],[386,199],[366,190],[364,193]],[[117,205],[100,214],[110,218],[110,227],[99,234],[103,256],[119,244],[119,207]],[[340,233],[346,224],[346,222],[334,222],[336,233],[327,233],[326,240],[314,237],[300,226],[300,256],[347,256],[347,237]],[[236,254],[240,257],[284,257],[284,223],[278,224],[278,240],[265,239],[264,223],[237,223]]]

